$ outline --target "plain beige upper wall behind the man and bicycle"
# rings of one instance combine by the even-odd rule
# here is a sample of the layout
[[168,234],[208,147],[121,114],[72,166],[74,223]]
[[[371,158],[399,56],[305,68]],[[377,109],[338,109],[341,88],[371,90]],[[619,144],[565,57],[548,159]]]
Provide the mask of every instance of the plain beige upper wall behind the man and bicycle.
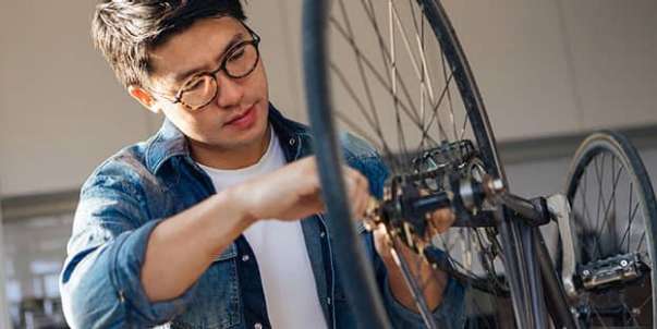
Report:
[[[656,123],[657,2],[447,0],[500,141]],[[24,0],[0,11],[4,195],[76,188],[160,118],[92,48],[95,1]],[[271,99],[305,118],[301,0],[250,1]]]

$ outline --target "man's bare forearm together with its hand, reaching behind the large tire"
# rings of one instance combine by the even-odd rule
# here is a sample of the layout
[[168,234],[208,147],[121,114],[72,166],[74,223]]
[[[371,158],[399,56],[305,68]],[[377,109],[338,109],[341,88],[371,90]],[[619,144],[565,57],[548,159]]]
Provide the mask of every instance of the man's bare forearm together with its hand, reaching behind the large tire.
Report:
[[[364,211],[367,180],[350,168],[344,168],[344,175],[354,209]],[[146,295],[151,302],[180,296],[256,220],[300,220],[324,211],[319,187],[315,158],[306,158],[221,191],[162,221],[148,239],[142,267]]]

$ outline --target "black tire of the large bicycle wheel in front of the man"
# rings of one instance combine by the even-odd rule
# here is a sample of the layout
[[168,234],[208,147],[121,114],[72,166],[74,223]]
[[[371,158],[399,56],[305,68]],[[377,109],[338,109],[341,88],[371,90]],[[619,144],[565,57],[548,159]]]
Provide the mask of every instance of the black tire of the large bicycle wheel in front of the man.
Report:
[[[345,294],[358,317],[358,322],[363,328],[388,328],[389,321],[374,283],[374,275],[366,264],[364,251],[357,243],[357,234],[351,224],[349,200],[345,199],[346,193],[344,193],[345,188],[341,179],[344,162],[337,138],[336,114],[331,99],[331,74],[327,56],[329,53],[327,36],[330,15],[329,2],[307,0],[304,1],[303,10],[306,100],[315,136],[314,147],[329,218],[329,232],[336,246],[334,253],[338,255],[339,276],[346,278],[343,280]],[[438,1],[417,0],[414,2],[422,8],[422,15],[440,45],[441,56],[445,56],[445,61],[452,70],[453,80],[484,163],[483,167],[487,173],[499,178],[506,185],[506,175],[499,161],[484,102],[447,14]],[[497,214],[499,214],[500,235],[503,243],[513,246],[504,248],[503,252],[507,253],[507,258],[513,259],[510,264],[514,268],[508,271],[514,273],[515,277],[509,281],[512,285],[512,296],[515,296],[513,300],[515,320],[522,327],[522,324],[532,321],[530,319],[532,312],[528,312],[528,308],[519,308],[526,307],[523,304],[528,304],[528,302],[524,301],[528,301],[532,295],[526,280],[521,282],[523,276],[526,276],[521,272],[528,268],[525,266],[525,259],[532,257],[532,253],[524,252],[525,255],[521,255],[523,247],[527,244],[526,239],[523,241],[520,228],[506,218],[506,210],[501,209]],[[518,296],[522,296],[522,298]]]

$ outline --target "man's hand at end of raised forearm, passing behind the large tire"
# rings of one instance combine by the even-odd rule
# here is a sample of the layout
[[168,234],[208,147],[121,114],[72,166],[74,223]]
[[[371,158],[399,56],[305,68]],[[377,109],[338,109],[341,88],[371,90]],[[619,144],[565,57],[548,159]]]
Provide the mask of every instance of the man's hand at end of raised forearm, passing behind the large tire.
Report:
[[[353,212],[363,214],[369,200],[367,179],[349,167],[343,173]],[[240,184],[231,195],[251,221],[299,220],[325,210],[320,191],[315,157],[308,157]]]

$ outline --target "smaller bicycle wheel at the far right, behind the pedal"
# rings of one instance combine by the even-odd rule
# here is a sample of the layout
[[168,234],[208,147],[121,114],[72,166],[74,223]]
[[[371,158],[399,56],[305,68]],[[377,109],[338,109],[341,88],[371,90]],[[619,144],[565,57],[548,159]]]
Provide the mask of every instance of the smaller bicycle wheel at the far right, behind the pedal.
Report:
[[[580,146],[567,181],[575,266],[571,306],[586,327],[653,327],[657,203],[636,149],[596,133]],[[568,239],[568,237],[562,237]],[[568,245],[568,244],[563,244]],[[568,273],[570,276],[570,273]]]

